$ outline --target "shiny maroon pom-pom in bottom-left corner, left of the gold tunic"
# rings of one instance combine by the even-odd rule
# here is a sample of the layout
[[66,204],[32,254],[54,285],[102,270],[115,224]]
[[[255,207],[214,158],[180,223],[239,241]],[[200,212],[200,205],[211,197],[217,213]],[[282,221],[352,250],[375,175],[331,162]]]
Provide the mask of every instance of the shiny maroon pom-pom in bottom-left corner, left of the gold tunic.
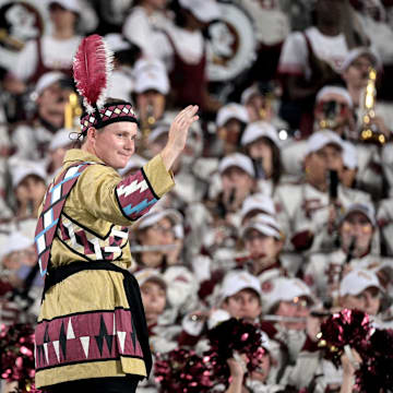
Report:
[[0,378],[19,383],[16,392],[39,392],[34,386],[34,330],[29,324],[0,327]]

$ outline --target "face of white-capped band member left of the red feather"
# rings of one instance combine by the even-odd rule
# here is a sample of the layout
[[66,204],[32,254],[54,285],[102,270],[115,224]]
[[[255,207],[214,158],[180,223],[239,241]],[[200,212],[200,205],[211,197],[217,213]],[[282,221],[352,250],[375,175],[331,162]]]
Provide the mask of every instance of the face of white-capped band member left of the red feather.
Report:
[[44,90],[37,98],[37,110],[41,119],[60,129],[64,123],[64,108],[72,93],[70,88],[63,88],[59,83],[53,83]]

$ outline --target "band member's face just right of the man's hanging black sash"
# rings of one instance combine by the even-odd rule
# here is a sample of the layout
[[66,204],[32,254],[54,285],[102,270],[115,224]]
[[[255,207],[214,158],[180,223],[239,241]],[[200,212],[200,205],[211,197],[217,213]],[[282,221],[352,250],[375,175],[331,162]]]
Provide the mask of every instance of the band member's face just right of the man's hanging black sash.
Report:
[[156,322],[157,318],[164,312],[165,309],[165,288],[154,281],[147,281],[141,286],[141,296],[146,320],[151,323]]

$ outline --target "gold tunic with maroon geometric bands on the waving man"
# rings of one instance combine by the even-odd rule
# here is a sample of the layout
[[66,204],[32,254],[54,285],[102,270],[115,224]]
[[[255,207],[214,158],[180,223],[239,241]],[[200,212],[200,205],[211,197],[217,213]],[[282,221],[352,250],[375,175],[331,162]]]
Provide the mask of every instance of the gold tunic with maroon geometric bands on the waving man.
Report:
[[[121,179],[96,156],[70,150],[63,169],[88,163],[69,192],[50,246],[49,267],[109,263],[129,269],[128,227],[174,186],[157,155]],[[60,175],[61,176],[61,175]],[[50,269],[49,269],[50,275]],[[36,326],[37,388],[127,373],[146,377],[124,276],[83,270],[50,287]]]

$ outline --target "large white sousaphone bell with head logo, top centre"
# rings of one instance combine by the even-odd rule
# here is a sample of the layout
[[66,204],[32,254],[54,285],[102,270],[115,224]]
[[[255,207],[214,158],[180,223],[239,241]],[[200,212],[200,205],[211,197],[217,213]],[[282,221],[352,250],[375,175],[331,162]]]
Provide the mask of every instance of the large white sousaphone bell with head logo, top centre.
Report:
[[238,76],[255,58],[257,40],[250,16],[237,4],[218,1],[222,19],[210,24],[207,74],[212,82]]

